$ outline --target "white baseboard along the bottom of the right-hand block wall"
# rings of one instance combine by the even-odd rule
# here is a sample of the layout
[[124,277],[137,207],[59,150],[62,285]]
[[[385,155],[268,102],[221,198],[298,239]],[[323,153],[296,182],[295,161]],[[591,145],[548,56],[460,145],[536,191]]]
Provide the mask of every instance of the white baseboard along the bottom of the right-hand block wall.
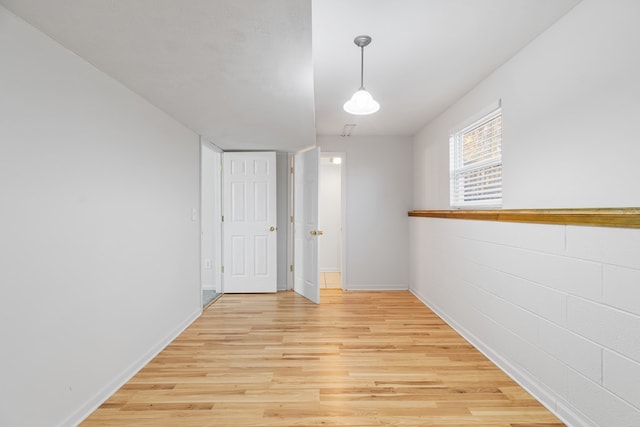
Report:
[[518,383],[518,385],[524,388],[529,394],[538,400],[538,402],[558,417],[563,423],[568,426],[597,427],[590,419],[582,415],[571,405],[567,404],[557,393],[551,391],[535,377],[531,376],[527,371],[506,360],[491,347],[487,346],[475,334],[471,333],[453,318],[449,317],[437,304],[429,301],[428,298],[421,295],[414,289],[409,289],[409,291],[431,311],[436,313],[442,320],[451,326],[458,334],[471,343],[480,353],[484,354],[505,374],[511,377],[512,380]]

